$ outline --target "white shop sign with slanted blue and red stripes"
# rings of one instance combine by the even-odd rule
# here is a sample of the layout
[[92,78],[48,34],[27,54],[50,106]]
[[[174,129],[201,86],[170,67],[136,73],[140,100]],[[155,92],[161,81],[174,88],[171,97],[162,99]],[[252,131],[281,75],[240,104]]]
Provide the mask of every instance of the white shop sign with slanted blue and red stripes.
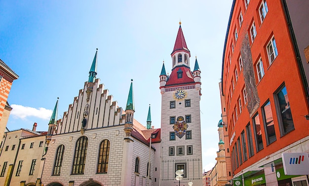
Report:
[[309,175],[308,153],[282,153],[285,175]]

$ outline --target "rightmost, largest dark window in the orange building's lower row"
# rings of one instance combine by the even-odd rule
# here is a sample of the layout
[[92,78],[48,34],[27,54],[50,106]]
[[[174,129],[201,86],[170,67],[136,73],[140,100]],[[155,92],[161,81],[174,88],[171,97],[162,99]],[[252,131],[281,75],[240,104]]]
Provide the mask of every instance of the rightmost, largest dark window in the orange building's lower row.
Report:
[[276,110],[281,136],[294,130],[290,101],[285,85],[275,93]]

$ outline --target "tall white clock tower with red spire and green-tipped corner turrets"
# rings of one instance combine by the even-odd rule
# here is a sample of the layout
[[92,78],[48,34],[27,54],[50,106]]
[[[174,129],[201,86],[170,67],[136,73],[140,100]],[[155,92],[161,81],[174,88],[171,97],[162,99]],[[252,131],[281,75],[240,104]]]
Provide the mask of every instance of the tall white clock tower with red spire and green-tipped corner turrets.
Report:
[[191,53],[179,23],[171,53],[172,72],[160,74],[161,98],[161,184],[179,185],[176,171],[183,171],[180,185],[202,185],[202,150],[200,131],[200,69],[197,59],[190,68]]

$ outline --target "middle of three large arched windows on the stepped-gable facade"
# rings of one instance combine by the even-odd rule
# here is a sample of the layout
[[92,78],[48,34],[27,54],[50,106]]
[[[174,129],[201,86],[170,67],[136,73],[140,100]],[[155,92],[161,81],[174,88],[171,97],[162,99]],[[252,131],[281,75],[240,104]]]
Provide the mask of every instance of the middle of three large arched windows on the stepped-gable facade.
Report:
[[83,136],[77,139],[75,145],[72,174],[84,174],[87,157],[88,138]]

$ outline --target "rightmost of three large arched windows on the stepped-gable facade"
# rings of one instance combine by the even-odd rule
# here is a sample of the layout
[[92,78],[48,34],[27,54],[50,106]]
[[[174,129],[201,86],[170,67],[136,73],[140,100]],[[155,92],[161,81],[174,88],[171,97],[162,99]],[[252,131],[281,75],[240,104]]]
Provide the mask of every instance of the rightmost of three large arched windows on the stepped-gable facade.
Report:
[[100,144],[97,173],[107,173],[110,158],[110,141],[105,139]]

